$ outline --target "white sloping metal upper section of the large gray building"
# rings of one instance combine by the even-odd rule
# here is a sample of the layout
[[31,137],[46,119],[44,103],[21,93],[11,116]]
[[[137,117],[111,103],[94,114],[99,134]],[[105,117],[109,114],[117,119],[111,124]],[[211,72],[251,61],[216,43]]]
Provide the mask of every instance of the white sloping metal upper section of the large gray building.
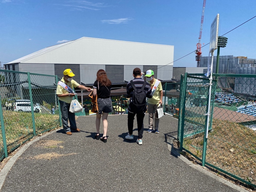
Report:
[[166,65],[173,61],[173,55],[174,46],[170,45],[82,37],[7,64]]

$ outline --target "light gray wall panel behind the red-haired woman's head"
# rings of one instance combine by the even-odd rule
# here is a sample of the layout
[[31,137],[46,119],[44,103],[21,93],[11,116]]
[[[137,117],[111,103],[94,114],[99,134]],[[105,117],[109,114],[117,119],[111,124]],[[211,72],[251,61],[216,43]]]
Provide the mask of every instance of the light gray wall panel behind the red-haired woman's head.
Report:
[[98,70],[105,70],[105,65],[80,65],[80,80],[84,84],[93,84]]

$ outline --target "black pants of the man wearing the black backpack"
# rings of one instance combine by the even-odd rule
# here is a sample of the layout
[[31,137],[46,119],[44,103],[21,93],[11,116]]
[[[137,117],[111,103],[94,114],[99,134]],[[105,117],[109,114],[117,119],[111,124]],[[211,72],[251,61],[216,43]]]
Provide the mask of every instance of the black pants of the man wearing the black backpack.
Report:
[[133,120],[134,117],[137,117],[137,126],[138,126],[138,139],[141,139],[143,136],[143,129],[144,129],[144,125],[143,125],[143,120],[145,117],[145,114],[136,114],[136,113],[130,113],[128,111],[128,131],[129,134],[132,135],[133,134]]

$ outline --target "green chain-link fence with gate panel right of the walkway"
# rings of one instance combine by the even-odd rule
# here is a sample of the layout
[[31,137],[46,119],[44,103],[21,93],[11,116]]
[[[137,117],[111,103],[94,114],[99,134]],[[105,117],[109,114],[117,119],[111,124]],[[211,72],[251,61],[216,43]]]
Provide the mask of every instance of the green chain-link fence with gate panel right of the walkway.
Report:
[[[182,77],[178,139],[205,164],[256,187],[256,75],[214,74],[209,80]],[[210,105],[209,131],[206,129]],[[207,134],[208,133],[208,134]],[[207,137],[208,135],[208,137]]]

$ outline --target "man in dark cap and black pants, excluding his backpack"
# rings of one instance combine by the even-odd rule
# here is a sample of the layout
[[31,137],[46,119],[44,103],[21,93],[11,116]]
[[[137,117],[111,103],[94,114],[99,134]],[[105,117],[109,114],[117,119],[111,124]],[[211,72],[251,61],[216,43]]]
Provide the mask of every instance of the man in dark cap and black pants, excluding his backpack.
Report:
[[[134,76],[134,79],[132,81],[133,81],[135,87],[137,89],[140,89],[143,86],[143,83],[145,81],[141,78],[141,76],[142,76],[141,70],[139,68],[135,68],[133,70],[133,76]],[[132,88],[132,85],[130,82],[128,82],[126,89],[127,89],[127,97],[128,98],[132,97],[134,89]],[[146,97],[148,97],[148,98],[152,97],[151,87],[148,82],[146,82],[144,91],[146,93]],[[126,135],[125,138],[133,139],[133,120],[134,120],[135,115],[137,117],[137,125],[138,125],[138,139],[136,140],[136,142],[139,145],[142,145],[142,137],[143,137],[142,134],[143,134],[143,129],[144,129],[143,120],[144,120],[145,112],[137,113],[136,111],[132,110],[130,105],[128,107],[128,131],[129,131],[129,134]]]

